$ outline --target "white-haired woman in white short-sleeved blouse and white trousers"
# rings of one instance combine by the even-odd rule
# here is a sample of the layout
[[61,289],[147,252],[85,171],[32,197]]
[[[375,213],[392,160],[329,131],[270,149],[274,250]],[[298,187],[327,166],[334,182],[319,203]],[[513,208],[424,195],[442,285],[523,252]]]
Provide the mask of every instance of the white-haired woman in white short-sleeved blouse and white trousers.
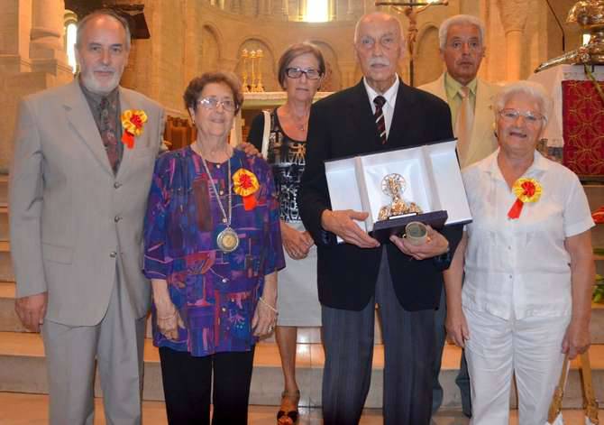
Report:
[[535,150],[551,103],[535,83],[503,88],[499,149],[463,171],[473,221],[445,272],[445,325],[465,347],[475,425],[508,425],[512,374],[520,425],[544,424],[564,354],[590,345],[587,198],[572,171]]

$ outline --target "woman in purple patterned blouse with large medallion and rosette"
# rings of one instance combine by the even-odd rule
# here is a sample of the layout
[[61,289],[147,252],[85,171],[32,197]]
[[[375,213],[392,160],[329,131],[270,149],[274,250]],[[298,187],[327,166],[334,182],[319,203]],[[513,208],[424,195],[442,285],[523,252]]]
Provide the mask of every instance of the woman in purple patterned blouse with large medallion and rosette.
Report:
[[212,423],[247,423],[254,344],[277,318],[274,180],[264,160],[228,143],[240,87],[221,72],[189,83],[197,141],[160,156],[151,184],[144,273],[170,424],[209,424],[212,386]]

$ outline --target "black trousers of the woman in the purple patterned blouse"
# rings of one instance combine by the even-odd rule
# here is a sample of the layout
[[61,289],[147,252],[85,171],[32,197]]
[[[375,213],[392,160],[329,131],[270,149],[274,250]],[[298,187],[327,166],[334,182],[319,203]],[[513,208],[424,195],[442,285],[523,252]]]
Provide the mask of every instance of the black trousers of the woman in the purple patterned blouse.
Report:
[[[245,425],[254,349],[194,357],[160,347],[161,378],[169,425]],[[212,374],[214,373],[214,380]]]

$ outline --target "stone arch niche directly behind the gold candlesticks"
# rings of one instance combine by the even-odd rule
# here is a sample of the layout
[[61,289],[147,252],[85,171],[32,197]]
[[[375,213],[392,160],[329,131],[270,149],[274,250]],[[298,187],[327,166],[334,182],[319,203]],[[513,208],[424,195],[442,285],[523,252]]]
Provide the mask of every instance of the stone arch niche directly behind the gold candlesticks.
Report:
[[[268,42],[265,42],[261,39],[261,37],[250,37],[243,41],[239,49],[237,50],[237,65],[235,66],[234,72],[237,74],[239,78],[243,80],[243,58],[242,51],[243,49],[247,51],[258,51],[259,49],[262,51],[262,59],[261,63],[261,72],[262,72],[262,86],[264,87],[264,91],[280,91],[281,88],[279,86],[279,79],[277,78],[277,59],[275,58],[274,49]],[[245,61],[246,63],[246,71],[247,71],[247,83],[250,87],[252,85],[252,61],[250,59]],[[258,71],[256,65],[258,64],[258,60],[256,60],[254,65],[254,72]]]

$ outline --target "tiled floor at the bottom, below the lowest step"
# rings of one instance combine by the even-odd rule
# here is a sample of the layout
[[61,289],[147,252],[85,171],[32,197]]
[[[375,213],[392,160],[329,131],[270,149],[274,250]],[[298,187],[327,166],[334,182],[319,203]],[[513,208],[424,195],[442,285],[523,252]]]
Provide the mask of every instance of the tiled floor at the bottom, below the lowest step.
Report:
[[[48,397],[21,393],[0,393],[0,424],[2,425],[44,425],[48,422]],[[105,424],[102,400],[96,399],[95,425]],[[265,425],[275,423],[275,406],[250,406],[250,425]],[[300,411],[299,425],[320,425],[321,411],[319,409],[303,409]],[[582,411],[564,411],[565,425],[582,425]],[[604,411],[599,411],[604,419]],[[166,414],[162,402],[143,403],[144,425],[165,425]],[[361,418],[361,425],[380,425],[381,412],[377,409],[367,409]],[[441,411],[434,418],[433,425],[467,425],[468,420],[461,411]],[[511,412],[510,425],[517,425],[517,411]]]

